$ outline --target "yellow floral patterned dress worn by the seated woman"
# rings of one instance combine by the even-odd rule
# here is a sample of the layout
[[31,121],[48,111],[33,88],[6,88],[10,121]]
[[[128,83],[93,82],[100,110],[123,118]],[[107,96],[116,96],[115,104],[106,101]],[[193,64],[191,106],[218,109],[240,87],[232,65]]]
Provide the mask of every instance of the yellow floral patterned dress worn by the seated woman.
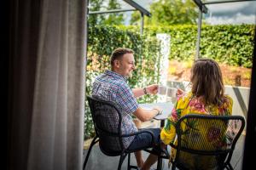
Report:
[[[189,94],[183,94],[177,97],[177,103],[172,110],[171,116],[167,119],[166,126],[162,129],[160,133],[160,139],[164,144],[170,144],[176,137],[176,128],[175,124],[182,117],[188,114],[206,114],[206,115],[216,115],[216,116],[230,116],[232,113],[232,105],[233,100],[228,95],[224,95],[223,104],[220,106],[216,105],[205,105],[201,102],[201,99],[196,98],[190,92]],[[185,126],[182,124],[182,127]],[[209,129],[207,129],[210,131]],[[207,134],[211,134],[211,132],[206,132]],[[212,135],[208,135],[209,141],[212,140]],[[196,144],[195,144],[195,147]],[[198,146],[200,147],[200,145]],[[171,158],[174,159],[176,154],[176,150],[172,150]],[[188,156],[188,159],[194,159]],[[186,161],[188,163],[189,160]],[[201,160],[203,162],[203,160]],[[193,169],[191,167],[191,169]],[[203,169],[203,168],[201,168]]]

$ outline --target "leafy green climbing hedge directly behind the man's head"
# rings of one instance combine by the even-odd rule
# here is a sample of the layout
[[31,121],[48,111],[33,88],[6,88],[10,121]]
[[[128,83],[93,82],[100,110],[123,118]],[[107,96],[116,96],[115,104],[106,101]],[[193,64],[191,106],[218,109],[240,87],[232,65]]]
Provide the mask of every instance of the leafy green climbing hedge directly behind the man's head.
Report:
[[[145,87],[159,82],[160,43],[154,37],[141,37],[139,34],[121,30],[113,26],[90,26],[88,32],[88,53],[86,67],[86,95],[91,94],[92,82],[103,71],[110,69],[110,55],[115,48],[134,50],[136,70],[128,83],[131,88]],[[143,96],[139,103],[153,102],[155,96]],[[85,104],[85,138],[94,134],[88,104]]]

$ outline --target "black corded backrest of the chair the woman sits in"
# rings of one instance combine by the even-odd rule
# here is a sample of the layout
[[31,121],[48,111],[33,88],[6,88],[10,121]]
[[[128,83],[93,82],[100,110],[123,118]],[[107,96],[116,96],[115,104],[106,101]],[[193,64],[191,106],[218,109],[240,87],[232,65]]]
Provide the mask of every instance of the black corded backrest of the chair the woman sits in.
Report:
[[184,169],[223,169],[230,160],[245,120],[242,116],[189,114],[176,124],[176,157],[172,164]]

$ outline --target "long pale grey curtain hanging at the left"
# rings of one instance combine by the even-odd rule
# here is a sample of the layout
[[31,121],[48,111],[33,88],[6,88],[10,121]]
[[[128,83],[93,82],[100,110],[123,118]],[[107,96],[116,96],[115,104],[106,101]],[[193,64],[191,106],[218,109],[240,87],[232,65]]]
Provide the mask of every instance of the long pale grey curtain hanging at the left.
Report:
[[86,3],[10,3],[9,169],[82,169]]

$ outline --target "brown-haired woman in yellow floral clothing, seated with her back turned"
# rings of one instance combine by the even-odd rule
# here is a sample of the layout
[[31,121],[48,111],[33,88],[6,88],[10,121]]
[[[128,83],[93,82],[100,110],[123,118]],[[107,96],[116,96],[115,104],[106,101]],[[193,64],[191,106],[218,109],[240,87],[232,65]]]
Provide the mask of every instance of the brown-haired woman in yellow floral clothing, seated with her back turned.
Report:
[[[181,90],[177,91],[177,103],[172,110],[172,115],[167,120],[166,127],[161,130],[160,139],[165,144],[170,144],[175,139],[175,124],[182,116],[188,114],[230,116],[232,113],[233,100],[228,95],[224,95],[224,82],[216,61],[197,59],[191,69],[190,83],[192,87],[188,94]],[[194,145],[195,147],[201,146],[200,144]],[[204,149],[207,150],[207,148]],[[175,153],[176,150],[172,149],[171,160],[174,159]],[[185,153],[181,152],[181,154]],[[189,169],[198,169],[199,167],[194,167],[194,161],[197,158],[187,155],[183,155],[186,159],[183,161],[189,166]],[[199,162],[200,169],[210,169],[211,163],[213,166],[213,161],[209,157],[205,160],[202,157]]]

